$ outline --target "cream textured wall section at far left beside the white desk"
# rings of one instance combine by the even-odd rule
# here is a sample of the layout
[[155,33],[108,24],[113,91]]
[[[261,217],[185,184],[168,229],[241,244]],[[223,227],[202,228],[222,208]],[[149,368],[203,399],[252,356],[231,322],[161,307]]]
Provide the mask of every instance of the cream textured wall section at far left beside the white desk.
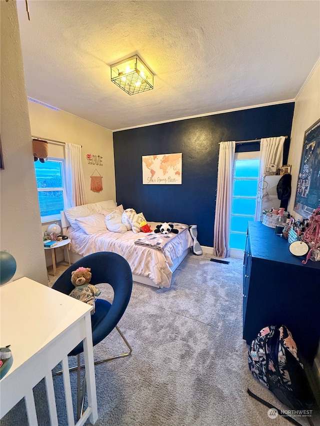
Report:
[[15,1],[1,10],[1,250],[14,256],[13,279],[47,285],[31,132]]

